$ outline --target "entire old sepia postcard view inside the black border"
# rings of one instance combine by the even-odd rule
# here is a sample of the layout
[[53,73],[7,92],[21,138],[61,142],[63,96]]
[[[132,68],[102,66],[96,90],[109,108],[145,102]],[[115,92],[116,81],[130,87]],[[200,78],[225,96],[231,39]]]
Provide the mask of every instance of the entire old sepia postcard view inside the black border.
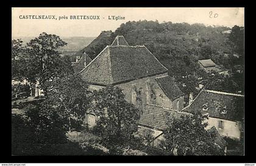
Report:
[[12,7],[12,156],[244,156],[244,7]]

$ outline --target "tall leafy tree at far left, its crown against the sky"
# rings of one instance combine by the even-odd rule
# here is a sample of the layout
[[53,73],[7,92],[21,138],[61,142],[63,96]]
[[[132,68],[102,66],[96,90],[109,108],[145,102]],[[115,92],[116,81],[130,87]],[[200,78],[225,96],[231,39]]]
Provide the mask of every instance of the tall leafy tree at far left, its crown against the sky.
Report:
[[[13,75],[30,83],[39,81],[45,95],[52,88],[52,81],[73,72],[69,58],[60,56],[59,47],[66,45],[57,35],[43,32],[21,49],[21,41],[12,41]],[[22,51],[21,51],[22,50]]]

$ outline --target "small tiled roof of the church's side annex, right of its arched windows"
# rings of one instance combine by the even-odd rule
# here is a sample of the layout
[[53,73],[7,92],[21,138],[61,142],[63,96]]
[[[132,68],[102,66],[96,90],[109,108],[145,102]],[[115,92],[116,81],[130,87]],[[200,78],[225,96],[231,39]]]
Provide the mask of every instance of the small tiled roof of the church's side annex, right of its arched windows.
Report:
[[169,77],[169,75],[155,78],[155,80],[169,99],[175,100],[178,97],[184,95],[184,93],[180,91],[179,86],[177,86],[176,82],[174,81],[174,78]]

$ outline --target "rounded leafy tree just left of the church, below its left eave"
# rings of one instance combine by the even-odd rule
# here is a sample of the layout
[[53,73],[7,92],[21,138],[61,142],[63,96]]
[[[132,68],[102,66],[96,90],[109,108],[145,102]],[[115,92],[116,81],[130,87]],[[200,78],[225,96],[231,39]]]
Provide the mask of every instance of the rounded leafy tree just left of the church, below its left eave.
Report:
[[[52,105],[59,115],[69,122],[69,130],[71,130],[71,120],[82,125],[85,117],[85,110],[90,105],[90,91],[87,90],[88,85],[79,75],[65,75],[52,81],[54,87],[49,91],[49,105]],[[73,127],[75,124],[73,124]],[[77,127],[79,127],[77,126]]]

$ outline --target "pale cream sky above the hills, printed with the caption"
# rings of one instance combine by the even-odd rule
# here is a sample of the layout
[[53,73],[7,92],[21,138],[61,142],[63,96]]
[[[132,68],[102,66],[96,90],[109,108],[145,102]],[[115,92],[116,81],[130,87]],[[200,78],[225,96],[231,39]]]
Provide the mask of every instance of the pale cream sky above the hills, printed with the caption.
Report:
[[[55,15],[56,19],[21,19],[26,15]],[[70,19],[97,15],[99,19]],[[68,19],[60,19],[67,16]],[[118,21],[108,16],[122,16]],[[115,31],[122,23],[139,20],[172,23],[202,23],[206,26],[244,26],[244,8],[12,8],[12,37],[38,36],[41,32],[71,36],[98,36],[102,30]]]

